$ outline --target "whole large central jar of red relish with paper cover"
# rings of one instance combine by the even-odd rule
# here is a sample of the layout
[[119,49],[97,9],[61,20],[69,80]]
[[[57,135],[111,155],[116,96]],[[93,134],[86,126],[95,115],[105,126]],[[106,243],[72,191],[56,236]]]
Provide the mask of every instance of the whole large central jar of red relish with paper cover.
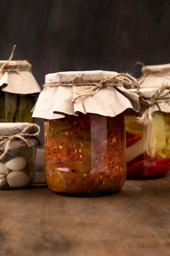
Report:
[[44,118],[49,189],[81,196],[120,191],[126,180],[124,116],[148,108],[123,87],[127,83],[137,81],[102,70],[46,75],[33,117]]

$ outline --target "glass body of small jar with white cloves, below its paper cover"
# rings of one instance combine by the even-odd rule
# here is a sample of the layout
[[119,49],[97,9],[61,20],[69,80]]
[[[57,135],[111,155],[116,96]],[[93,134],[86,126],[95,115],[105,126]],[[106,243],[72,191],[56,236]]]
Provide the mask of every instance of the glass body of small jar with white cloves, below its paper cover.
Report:
[[33,183],[35,152],[35,145],[8,150],[7,155],[0,160],[0,189],[19,189]]

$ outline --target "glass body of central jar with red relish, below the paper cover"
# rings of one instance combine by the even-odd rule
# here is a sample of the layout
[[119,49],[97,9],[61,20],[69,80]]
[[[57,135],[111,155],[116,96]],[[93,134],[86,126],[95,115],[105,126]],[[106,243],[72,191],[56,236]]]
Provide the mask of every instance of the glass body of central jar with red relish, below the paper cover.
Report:
[[44,121],[44,175],[59,194],[101,195],[126,180],[124,113],[65,115]]

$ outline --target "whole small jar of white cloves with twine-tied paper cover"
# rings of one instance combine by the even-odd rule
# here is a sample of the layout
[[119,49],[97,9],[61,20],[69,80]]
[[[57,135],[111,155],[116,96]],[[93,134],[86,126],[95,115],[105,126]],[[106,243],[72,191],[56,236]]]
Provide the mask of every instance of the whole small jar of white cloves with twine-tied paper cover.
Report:
[[0,189],[20,189],[35,180],[40,128],[30,123],[0,123]]

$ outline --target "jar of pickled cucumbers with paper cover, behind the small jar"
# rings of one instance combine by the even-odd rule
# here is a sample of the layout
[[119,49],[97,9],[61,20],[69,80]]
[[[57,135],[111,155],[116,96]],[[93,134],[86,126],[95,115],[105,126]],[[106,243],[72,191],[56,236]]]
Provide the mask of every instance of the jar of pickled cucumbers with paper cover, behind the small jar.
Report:
[[31,73],[31,64],[11,58],[0,61],[0,122],[33,123],[31,110],[41,88]]

